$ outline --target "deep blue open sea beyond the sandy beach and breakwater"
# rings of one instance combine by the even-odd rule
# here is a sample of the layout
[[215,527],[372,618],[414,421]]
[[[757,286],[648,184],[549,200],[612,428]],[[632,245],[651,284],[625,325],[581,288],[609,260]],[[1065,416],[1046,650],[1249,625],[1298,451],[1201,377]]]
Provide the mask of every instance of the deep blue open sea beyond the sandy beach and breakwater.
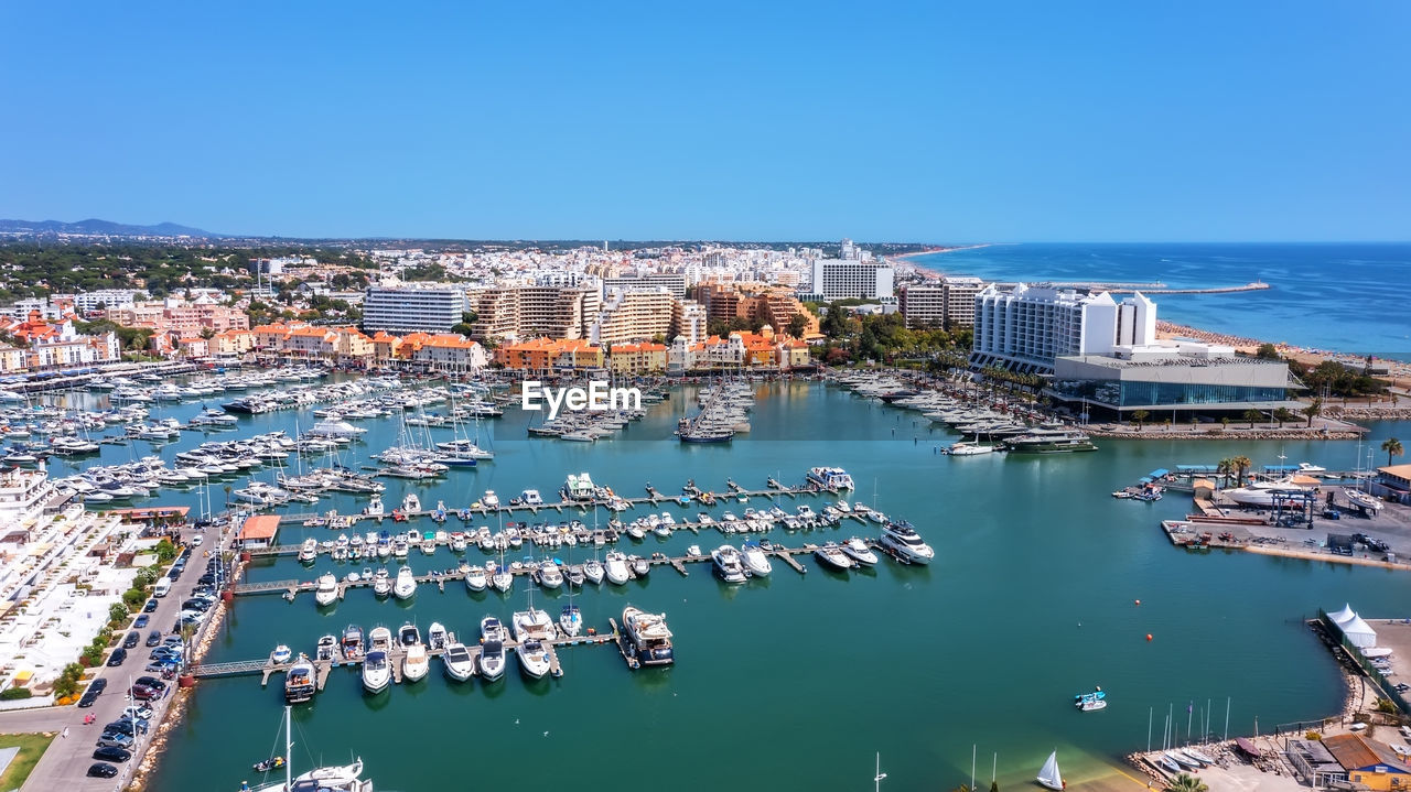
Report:
[[1411,244],[1029,244],[912,259],[996,280],[1161,282],[1173,289],[1270,289],[1153,295],[1157,316],[1218,333],[1297,347],[1411,359],[1401,285]]

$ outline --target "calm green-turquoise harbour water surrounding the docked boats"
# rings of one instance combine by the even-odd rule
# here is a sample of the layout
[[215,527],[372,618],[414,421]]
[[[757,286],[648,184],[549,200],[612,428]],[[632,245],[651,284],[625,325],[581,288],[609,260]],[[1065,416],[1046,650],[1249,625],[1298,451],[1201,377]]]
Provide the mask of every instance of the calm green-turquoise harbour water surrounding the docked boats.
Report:
[[[437,486],[389,482],[385,499],[395,505],[412,486],[428,506],[437,499],[464,505],[485,489],[547,495],[579,471],[626,495],[641,493],[648,481],[674,493],[689,478],[717,490],[727,476],[762,488],[768,476],[799,482],[809,466],[832,464],[854,475],[858,497],[872,500],[875,489],[882,510],[916,523],[937,561],[927,568],[883,561],[844,575],[806,558],[807,575],[776,564],[768,579],[738,588],[717,582],[706,567],[691,567],[687,578],[656,569],[648,581],[604,585],[576,598],[587,623],[605,627],[626,603],[665,612],[676,633],[674,667],[629,672],[612,648],[579,647],[560,652],[562,679],[525,682],[511,661],[501,682],[453,685],[436,662],[425,682],[378,698],[363,695],[354,672],[336,669],[323,693],[295,707],[296,761],[341,761],[351,751],[365,760],[380,789],[504,786],[525,784],[526,775],[536,776],[533,786],[660,779],[680,789],[849,789],[871,782],[873,753],[880,751],[890,788],[920,789],[968,781],[972,744],[981,765],[998,753],[1002,784],[1031,779],[1057,745],[1065,775],[1081,782],[1146,745],[1151,707],[1181,710],[1195,702],[1199,714],[1211,699],[1211,723],[1221,731],[1232,696],[1232,734],[1250,733],[1254,717],[1268,729],[1335,712],[1338,671],[1301,620],[1343,602],[1369,616],[1401,616],[1411,596],[1411,579],[1380,569],[1188,555],[1157,527],[1185,512],[1182,497],[1146,505],[1108,495],[1158,466],[1208,464],[1235,452],[1273,464],[1273,445],[1106,441],[1096,454],[952,459],[934,454],[948,437],[914,424],[912,413],[820,383],[782,383],[759,388],[752,434],[729,447],[683,447],[666,438],[686,402],[694,403],[693,392],[597,444],[525,440],[523,416],[508,410],[488,424],[494,462],[452,472]],[[292,431],[295,420],[308,426],[312,417],[246,417],[240,434]],[[391,420],[370,426],[361,457],[396,434]],[[1374,434],[1397,428],[1404,426],[1383,424]],[[162,455],[199,440],[188,435]],[[145,443],[107,447],[103,458],[148,451]],[[1352,466],[1357,455],[1350,443],[1295,443],[1284,452],[1290,461],[1328,466]],[[152,502],[196,499],[171,493]],[[346,513],[361,502],[340,496],[316,506],[330,507]],[[634,513],[642,509],[626,514]],[[854,533],[875,531],[858,523],[837,531]],[[292,527],[281,540],[305,536],[330,533]],[[790,545],[817,537],[773,533]],[[649,536],[636,551],[682,554],[689,544],[720,541],[713,534]],[[621,544],[634,543],[624,537]],[[567,558],[570,551],[556,554]],[[483,555],[471,548],[470,558]],[[416,571],[456,565],[446,551],[413,552],[408,562]],[[248,579],[313,579],[326,568],[346,574],[354,567],[320,558],[309,571],[293,558],[267,559]],[[420,586],[413,603],[398,605],[361,589],[326,612],[310,596],[293,603],[240,598],[207,660],[262,658],[278,643],[312,652],[319,636],[337,634],[350,621],[395,629],[404,620],[423,627],[435,620],[473,636],[485,613],[505,619],[522,609],[525,590],[523,582],[508,598],[471,595],[461,585],[444,593]],[[566,595],[535,593],[536,603],[545,599],[556,613]],[[1071,696],[1092,685],[1109,691],[1110,706],[1077,713]],[[152,788],[236,789],[241,779],[255,781],[250,764],[282,745],[281,705],[278,679],[267,689],[255,676],[200,682]],[[1184,733],[1185,720],[1177,720]],[[1157,741],[1160,731],[1157,716]],[[579,781],[570,772],[611,778]]]

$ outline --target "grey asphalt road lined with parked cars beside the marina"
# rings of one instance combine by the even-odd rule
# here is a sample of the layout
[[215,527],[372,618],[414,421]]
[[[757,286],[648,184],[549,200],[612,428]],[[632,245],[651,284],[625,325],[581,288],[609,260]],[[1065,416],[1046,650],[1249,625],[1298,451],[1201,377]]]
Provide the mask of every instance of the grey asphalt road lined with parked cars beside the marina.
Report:
[[[189,540],[196,533],[200,531],[188,528],[183,531],[183,538]],[[210,540],[216,540],[219,536],[216,528],[212,528],[209,534]],[[234,531],[229,530],[226,534],[226,541],[229,543],[229,537],[233,537]],[[214,548],[210,550],[216,555]],[[79,709],[69,705],[62,707],[0,712],[0,733],[62,731],[65,727],[69,729],[66,738],[54,738],[44,757],[40,758],[40,764],[35,765],[34,772],[30,774],[28,781],[21,786],[21,792],[31,789],[35,792],[51,792],[54,789],[63,789],[66,792],[109,792],[127,785],[133,771],[141,764],[143,755],[151,747],[157,724],[166,717],[174,698],[172,693],[176,689],[176,681],[172,679],[168,683],[166,695],[161,699],[147,702],[154,710],[151,730],[145,736],[138,737],[138,741],[133,745],[133,758],[116,765],[119,768],[117,778],[87,778],[87,768],[96,761],[93,760],[95,743],[103,731],[103,724],[117,720],[123,713],[123,707],[130,703],[127,700],[127,691],[131,686],[131,681],[148,674],[143,671],[148,664],[147,655],[151,652],[145,647],[147,634],[158,629],[166,633],[176,623],[176,616],[181,613],[181,603],[190,598],[192,590],[196,588],[196,579],[205,574],[206,561],[207,558],[202,547],[192,548],[192,557],[186,562],[186,572],[172,585],[171,592],[165,598],[157,600],[159,605],[150,616],[151,623],[138,630],[143,636],[143,644],[138,644],[135,650],[128,650],[127,661],[123,665],[117,668],[104,665],[97,674],[97,676],[107,679],[107,689],[97,698],[97,702],[92,707]],[[128,630],[131,629],[128,627]],[[126,636],[128,630],[124,630],[121,634]],[[85,714],[93,714],[95,720],[90,726],[83,724]]]

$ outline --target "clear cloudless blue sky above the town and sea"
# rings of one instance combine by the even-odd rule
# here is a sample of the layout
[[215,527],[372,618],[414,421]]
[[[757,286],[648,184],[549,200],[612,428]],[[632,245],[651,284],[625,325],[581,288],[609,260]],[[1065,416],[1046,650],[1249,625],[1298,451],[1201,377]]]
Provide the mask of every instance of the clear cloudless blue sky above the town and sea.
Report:
[[0,6],[0,217],[1411,238],[1411,4]]

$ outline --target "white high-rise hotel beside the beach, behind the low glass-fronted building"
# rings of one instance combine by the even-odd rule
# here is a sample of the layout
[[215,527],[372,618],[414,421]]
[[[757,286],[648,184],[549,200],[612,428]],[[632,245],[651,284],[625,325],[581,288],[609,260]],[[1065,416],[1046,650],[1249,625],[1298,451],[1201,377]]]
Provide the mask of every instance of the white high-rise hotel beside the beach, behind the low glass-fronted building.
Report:
[[992,285],[975,296],[971,366],[1053,373],[1060,357],[1110,355],[1119,345],[1153,341],[1156,303],[1140,293],[1118,303],[1106,292]]

